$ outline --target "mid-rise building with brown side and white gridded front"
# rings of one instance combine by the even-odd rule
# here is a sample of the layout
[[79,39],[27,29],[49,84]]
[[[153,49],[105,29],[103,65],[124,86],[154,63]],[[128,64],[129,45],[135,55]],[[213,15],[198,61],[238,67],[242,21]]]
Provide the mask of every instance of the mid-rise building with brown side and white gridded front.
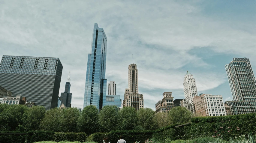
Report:
[[193,98],[195,113],[201,116],[226,116],[222,95],[201,94]]

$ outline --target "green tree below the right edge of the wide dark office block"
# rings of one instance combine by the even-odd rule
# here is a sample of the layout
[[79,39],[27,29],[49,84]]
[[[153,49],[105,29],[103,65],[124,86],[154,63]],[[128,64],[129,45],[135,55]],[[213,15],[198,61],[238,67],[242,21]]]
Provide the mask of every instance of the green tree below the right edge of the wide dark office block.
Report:
[[61,128],[61,109],[53,108],[45,113],[41,121],[40,127],[45,131],[60,132]]

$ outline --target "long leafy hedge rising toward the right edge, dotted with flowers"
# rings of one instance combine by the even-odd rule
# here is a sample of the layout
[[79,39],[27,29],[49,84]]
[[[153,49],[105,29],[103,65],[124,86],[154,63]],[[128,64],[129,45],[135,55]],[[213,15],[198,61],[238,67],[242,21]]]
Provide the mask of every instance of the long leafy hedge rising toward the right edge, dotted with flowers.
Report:
[[221,136],[223,139],[256,133],[256,113],[233,115],[233,116],[211,116],[196,117],[191,119],[191,124],[175,127],[172,124],[152,131],[111,131],[110,133],[94,133],[87,141],[101,143],[103,138],[108,137],[110,142],[117,142],[122,134],[126,142],[144,142],[146,139],[155,138],[164,140],[196,139],[207,136]]

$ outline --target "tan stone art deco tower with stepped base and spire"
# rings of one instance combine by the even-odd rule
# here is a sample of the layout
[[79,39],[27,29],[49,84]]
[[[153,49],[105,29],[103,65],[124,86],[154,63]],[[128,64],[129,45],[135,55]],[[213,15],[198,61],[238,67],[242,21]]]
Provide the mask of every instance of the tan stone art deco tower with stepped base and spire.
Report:
[[125,89],[123,107],[134,107],[136,110],[144,107],[143,94],[139,94],[138,70],[136,64],[128,66],[128,88]]

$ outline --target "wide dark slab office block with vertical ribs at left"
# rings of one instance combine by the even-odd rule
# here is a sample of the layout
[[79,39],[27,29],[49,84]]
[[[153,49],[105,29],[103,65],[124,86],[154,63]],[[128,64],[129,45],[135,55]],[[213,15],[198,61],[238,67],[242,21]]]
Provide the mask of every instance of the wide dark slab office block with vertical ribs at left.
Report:
[[0,86],[50,110],[57,107],[62,68],[59,58],[3,56]]

